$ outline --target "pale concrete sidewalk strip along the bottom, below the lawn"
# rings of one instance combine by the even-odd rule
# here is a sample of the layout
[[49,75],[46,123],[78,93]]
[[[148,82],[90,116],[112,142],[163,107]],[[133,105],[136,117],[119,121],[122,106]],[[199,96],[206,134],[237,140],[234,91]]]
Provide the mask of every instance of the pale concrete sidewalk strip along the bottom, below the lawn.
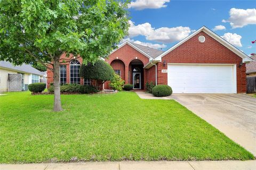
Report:
[[1,164],[1,170],[255,170],[256,160],[247,161],[184,161],[184,162],[87,162],[50,164]]

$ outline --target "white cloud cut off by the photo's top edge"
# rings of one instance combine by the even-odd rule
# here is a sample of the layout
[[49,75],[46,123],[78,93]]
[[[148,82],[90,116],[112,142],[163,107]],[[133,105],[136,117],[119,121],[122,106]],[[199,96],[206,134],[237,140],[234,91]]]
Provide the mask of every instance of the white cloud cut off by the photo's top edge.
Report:
[[134,8],[135,10],[143,10],[146,8],[156,9],[161,7],[166,7],[165,3],[170,2],[170,0],[135,0],[132,1],[128,7]]

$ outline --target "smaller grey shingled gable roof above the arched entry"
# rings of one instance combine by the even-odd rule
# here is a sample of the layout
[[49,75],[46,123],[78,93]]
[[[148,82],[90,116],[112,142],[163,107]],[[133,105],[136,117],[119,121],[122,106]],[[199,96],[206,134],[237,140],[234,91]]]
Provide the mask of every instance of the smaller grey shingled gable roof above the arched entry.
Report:
[[159,50],[159,49],[150,48],[150,47],[147,47],[147,46],[142,46],[142,45],[139,45],[139,44],[131,43],[130,41],[125,41],[124,43],[119,45],[117,49],[113,50],[113,52],[111,52],[110,54],[114,53],[116,50],[118,50],[119,48],[123,47],[126,44],[130,45],[134,49],[138,50],[138,52],[147,56],[149,58],[149,60],[153,60],[154,58],[156,58],[160,54],[164,53],[162,50]]

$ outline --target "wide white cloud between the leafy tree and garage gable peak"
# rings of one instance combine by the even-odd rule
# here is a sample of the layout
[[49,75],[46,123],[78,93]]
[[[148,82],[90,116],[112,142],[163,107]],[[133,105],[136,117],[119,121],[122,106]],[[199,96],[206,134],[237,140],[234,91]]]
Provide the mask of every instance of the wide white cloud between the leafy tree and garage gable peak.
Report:
[[138,25],[134,25],[132,21],[129,22],[129,37],[141,35],[145,36],[147,40],[154,40],[161,43],[172,43],[174,41],[180,41],[191,33],[189,27],[161,27],[155,29],[151,27],[151,24],[148,22]]

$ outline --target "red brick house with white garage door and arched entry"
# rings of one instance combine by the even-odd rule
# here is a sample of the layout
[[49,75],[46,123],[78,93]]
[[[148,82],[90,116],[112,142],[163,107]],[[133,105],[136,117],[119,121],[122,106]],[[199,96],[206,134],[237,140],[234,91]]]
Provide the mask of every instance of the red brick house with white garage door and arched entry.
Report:
[[[90,84],[79,77],[82,58],[73,58],[61,56],[61,83]],[[105,61],[134,89],[145,90],[152,81],[174,93],[236,94],[246,92],[245,62],[252,59],[202,27],[165,52],[125,41]],[[48,87],[51,82],[53,73],[47,70]]]

